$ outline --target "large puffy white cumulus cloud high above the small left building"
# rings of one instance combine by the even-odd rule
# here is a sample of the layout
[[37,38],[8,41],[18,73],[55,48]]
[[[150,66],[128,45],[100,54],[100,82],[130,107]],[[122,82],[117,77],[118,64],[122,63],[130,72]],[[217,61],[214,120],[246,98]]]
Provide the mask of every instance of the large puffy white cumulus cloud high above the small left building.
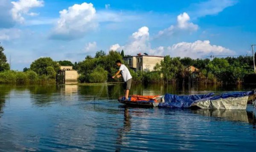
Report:
[[98,26],[95,20],[96,10],[92,3],[75,4],[59,13],[60,17],[51,35],[53,39],[80,38]]

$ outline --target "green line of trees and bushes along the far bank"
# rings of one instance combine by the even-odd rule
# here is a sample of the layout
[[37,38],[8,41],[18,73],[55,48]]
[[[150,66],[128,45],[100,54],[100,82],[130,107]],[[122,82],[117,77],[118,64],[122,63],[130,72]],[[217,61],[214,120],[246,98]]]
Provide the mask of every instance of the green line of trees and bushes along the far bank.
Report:
[[[92,57],[87,55],[83,61],[54,61],[50,57],[41,57],[31,63],[23,72],[10,70],[4,48],[0,45],[0,83],[55,82],[59,66],[73,66],[79,72],[80,83],[122,82],[122,78],[112,79],[118,70],[115,61],[128,55],[124,51],[110,51],[106,54],[100,50]],[[124,63],[126,64],[126,63]],[[188,69],[194,66],[198,71]],[[127,65],[128,67],[128,65]],[[256,83],[253,71],[253,57],[239,56],[209,59],[192,59],[190,57],[170,57],[157,63],[152,72],[134,72],[129,69],[136,83]]]

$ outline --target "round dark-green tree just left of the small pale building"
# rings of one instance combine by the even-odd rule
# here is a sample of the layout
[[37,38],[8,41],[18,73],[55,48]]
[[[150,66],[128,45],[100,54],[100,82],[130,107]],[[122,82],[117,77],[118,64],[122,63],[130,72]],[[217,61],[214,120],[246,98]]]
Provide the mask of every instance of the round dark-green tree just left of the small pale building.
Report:
[[60,67],[58,63],[53,61],[50,57],[41,57],[30,65],[30,69],[35,71],[38,75],[48,75],[47,67],[51,66],[55,72],[57,72]]

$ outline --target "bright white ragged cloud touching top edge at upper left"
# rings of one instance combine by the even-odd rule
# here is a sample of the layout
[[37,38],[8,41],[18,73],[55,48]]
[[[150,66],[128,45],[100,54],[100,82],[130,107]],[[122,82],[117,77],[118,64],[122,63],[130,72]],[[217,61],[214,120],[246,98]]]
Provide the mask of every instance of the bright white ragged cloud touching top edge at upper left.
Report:
[[12,12],[12,18],[13,20],[23,23],[24,17],[23,14],[35,16],[37,13],[30,12],[29,10],[35,7],[42,7],[44,6],[43,0],[19,0],[17,2],[12,2],[13,8],[11,10]]

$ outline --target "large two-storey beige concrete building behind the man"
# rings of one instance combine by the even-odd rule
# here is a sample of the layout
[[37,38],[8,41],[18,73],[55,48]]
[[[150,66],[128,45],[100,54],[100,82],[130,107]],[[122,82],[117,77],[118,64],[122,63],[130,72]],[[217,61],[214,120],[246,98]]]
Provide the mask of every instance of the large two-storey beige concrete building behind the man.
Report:
[[156,55],[137,55],[124,57],[123,60],[128,63],[128,66],[135,71],[153,71],[154,66],[163,60],[163,56]]

